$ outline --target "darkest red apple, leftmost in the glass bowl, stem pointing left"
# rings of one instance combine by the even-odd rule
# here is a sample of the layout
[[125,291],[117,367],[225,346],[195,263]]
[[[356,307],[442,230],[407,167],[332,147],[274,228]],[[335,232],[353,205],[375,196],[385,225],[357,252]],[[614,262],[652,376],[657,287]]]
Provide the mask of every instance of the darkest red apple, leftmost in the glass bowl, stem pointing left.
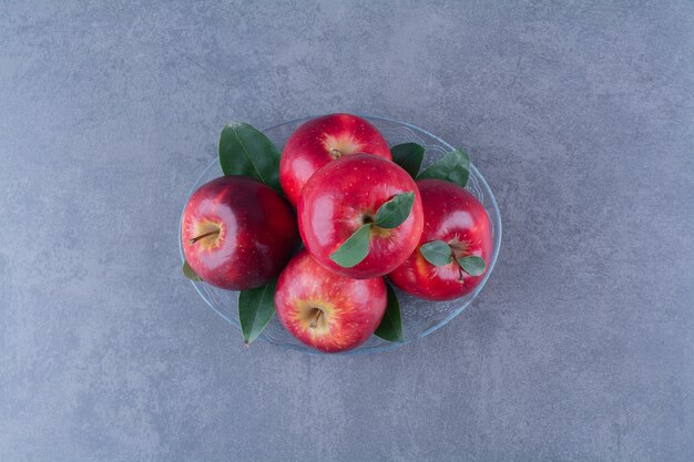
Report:
[[224,176],[193,193],[181,238],[186,261],[205,283],[243,290],[279,274],[298,233],[292,207],[274,189],[245,176]]

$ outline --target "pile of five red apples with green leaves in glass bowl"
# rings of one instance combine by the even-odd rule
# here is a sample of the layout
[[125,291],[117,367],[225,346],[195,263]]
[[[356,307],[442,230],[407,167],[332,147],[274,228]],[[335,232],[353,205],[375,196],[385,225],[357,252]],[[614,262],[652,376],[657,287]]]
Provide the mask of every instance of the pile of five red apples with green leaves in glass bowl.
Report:
[[220,140],[225,176],[195,191],[183,214],[183,271],[241,291],[246,343],[274,312],[324,352],[374,333],[401,341],[386,277],[412,296],[451,300],[481,283],[492,254],[487,212],[465,189],[467,154],[453,150],[420,172],[423,156],[415,143],[389,147],[351,114],[304,123],[282,152],[232,122]]

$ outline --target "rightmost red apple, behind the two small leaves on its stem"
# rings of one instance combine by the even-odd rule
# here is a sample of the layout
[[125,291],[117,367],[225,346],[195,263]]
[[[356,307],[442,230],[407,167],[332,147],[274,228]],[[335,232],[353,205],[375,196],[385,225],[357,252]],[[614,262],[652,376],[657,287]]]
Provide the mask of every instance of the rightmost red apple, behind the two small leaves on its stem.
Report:
[[[457,261],[477,256],[489,267],[492,255],[489,216],[472,194],[452,183],[422,179],[417,186],[425,211],[419,246],[388,278],[402,291],[428,300],[462,297],[482,281],[484,273],[470,276]],[[435,266],[423,257],[421,246],[435,240],[449,245],[455,257],[449,264]]]

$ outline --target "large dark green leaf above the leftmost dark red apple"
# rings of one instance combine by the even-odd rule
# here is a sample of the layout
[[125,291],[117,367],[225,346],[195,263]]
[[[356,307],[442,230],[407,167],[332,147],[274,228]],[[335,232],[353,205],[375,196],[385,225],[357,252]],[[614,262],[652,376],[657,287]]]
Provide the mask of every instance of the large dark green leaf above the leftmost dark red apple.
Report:
[[279,155],[277,146],[247,123],[232,121],[222,130],[220,164],[225,176],[251,176],[282,192]]

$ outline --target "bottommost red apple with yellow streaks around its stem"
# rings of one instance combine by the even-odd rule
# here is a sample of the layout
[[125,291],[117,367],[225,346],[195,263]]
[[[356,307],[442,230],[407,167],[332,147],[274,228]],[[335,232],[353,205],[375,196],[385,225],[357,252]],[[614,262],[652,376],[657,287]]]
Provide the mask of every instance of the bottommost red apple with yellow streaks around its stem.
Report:
[[386,311],[382,278],[349,279],[336,275],[306,251],[282,271],[275,308],[284,327],[302,342],[324,352],[364,343]]

